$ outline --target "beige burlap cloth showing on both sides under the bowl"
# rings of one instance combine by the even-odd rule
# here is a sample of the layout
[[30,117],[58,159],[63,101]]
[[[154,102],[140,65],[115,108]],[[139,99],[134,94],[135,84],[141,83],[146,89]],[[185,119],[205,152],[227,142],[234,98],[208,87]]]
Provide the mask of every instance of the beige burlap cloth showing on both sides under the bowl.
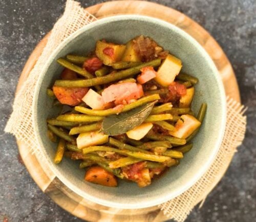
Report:
[[[44,66],[46,60],[60,42],[94,20],[96,18],[81,8],[79,3],[68,0],[65,12],[54,25],[44,51],[38,58],[23,87],[16,94],[13,112],[5,131],[15,135],[17,140],[25,142],[28,149],[37,154],[40,154],[40,146],[34,134],[31,107],[34,88],[40,75],[41,67]],[[194,186],[177,196],[177,198],[159,206],[168,218],[184,221],[195,205],[205,200],[213,188],[212,184],[215,185],[221,179],[233,154],[237,151],[237,147],[244,139],[246,128],[246,117],[243,116],[244,111],[243,106],[231,98],[227,98],[227,125],[218,155],[207,172]]]

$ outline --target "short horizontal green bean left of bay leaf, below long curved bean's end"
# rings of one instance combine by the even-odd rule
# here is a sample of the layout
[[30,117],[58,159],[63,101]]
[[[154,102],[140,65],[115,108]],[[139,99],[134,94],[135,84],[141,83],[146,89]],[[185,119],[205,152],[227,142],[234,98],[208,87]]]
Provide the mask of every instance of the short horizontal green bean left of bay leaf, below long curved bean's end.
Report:
[[[84,108],[84,107],[83,107]],[[102,120],[102,116],[90,116],[84,114],[63,114],[57,117],[57,120],[71,122],[96,122]]]

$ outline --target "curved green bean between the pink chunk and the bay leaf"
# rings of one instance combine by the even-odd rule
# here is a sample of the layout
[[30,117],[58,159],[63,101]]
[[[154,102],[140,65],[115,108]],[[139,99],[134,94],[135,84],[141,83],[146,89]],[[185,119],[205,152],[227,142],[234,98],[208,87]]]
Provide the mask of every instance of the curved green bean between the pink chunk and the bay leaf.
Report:
[[88,115],[107,116],[107,115],[117,114],[117,113],[121,113],[121,112],[126,112],[126,111],[129,111],[136,107],[139,107],[143,104],[146,104],[146,103],[149,103],[149,102],[152,102],[155,100],[159,100],[159,99],[160,99],[160,96],[158,94],[144,96],[133,103],[124,105],[122,110],[117,110],[115,108],[106,109],[106,110],[92,110],[92,109],[88,109],[88,108],[80,107],[80,106],[76,106],[75,110],[80,113],[84,113],[84,114],[88,114]]

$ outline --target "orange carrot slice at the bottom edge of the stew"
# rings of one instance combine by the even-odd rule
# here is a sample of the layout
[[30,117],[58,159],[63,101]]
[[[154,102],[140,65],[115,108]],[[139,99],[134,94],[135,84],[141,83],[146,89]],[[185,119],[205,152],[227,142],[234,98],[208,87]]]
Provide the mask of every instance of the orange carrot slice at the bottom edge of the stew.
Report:
[[90,167],[86,172],[84,180],[108,187],[117,186],[117,180],[115,176],[100,166]]

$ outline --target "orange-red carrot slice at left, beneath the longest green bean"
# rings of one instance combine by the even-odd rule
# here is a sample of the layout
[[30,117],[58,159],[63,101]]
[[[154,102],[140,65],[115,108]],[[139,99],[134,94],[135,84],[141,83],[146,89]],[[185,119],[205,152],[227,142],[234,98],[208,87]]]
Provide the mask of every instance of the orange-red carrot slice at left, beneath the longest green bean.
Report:
[[82,97],[88,92],[88,88],[67,88],[53,86],[53,93],[61,104],[76,106],[81,103]]

